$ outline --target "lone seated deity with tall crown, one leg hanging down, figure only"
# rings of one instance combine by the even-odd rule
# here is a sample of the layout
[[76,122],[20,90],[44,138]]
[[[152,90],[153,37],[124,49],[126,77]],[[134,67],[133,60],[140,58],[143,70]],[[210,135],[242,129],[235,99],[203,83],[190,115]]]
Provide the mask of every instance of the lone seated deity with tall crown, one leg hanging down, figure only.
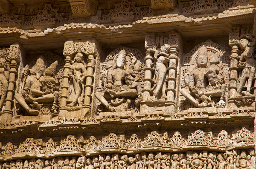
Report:
[[[121,50],[115,59],[114,69],[107,74],[107,83],[104,92],[96,92],[96,98],[111,112],[116,111],[108,100],[113,97],[123,99],[134,99],[141,92],[141,86],[136,82],[136,74],[133,70],[125,70],[125,50]],[[113,103],[112,103],[113,104]]]

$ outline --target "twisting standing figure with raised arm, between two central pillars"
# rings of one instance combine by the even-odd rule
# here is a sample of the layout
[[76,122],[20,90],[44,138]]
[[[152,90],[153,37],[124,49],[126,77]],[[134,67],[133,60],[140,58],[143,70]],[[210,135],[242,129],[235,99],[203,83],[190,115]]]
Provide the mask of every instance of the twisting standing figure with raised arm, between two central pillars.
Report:
[[170,46],[165,44],[161,46],[160,51],[157,49],[151,49],[151,52],[154,52],[154,63],[151,66],[154,66],[154,86],[151,89],[153,96],[157,99],[160,92],[162,92],[162,98],[166,100],[166,75],[167,75],[167,65],[169,61],[169,50]]

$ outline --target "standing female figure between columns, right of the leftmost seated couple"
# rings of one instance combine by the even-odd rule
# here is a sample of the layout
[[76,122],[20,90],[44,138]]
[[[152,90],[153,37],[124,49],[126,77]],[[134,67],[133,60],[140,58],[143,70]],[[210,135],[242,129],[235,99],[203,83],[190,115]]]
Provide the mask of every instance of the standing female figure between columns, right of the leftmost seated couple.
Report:
[[71,65],[69,81],[69,94],[67,103],[69,107],[81,106],[83,104],[84,84],[87,70],[84,63],[84,55],[77,53]]

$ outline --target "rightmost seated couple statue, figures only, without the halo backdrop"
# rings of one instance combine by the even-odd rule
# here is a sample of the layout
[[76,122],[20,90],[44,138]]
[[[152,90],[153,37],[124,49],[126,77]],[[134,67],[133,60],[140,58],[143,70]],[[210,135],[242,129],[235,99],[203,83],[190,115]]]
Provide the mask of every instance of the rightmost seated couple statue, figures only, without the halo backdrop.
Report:
[[[185,76],[185,84],[188,89],[181,89],[180,93],[196,107],[223,107],[226,86],[220,68],[218,54],[213,54],[207,67],[207,48],[202,46],[199,50],[197,66]],[[215,103],[212,98],[215,98]]]

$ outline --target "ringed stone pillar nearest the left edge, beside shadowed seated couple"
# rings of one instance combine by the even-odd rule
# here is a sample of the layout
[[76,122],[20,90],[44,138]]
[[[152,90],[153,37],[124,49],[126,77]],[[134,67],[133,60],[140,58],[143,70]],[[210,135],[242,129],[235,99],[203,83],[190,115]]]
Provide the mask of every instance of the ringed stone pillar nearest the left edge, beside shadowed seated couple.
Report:
[[20,63],[20,52],[21,46],[18,43],[12,44],[10,46],[9,60],[10,60],[10,75],[8,81],[8,89],[6,96],[5,109],[3,110],[2,120],[11,121],[13,116],[13,105],[14,105],[14,94],[15,85],[17,79],[18,65]]

